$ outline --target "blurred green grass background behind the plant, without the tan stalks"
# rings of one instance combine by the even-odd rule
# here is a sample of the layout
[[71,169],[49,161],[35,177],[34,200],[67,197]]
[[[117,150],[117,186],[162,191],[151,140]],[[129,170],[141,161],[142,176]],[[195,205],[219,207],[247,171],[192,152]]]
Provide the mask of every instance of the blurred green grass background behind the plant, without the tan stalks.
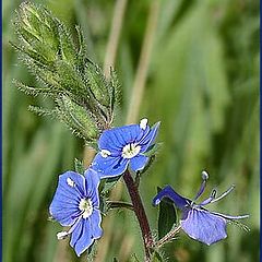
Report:
[[[126,122],[151,0],[130,0],[122,22],[116,70],[122,84],[117,124]],[[73,169],[84,146],[64,127],[27,111],[29,104],[49,100],[19,92],[12,79],[35,80],[19,63],[9,45],[11,20],[21,1],[2,2],[3,51],[3,261],[68,262],[76,259],[67,240],[58,241],[57,223],[48,222],[48,206],[59,174]],[[116,1],[34,1],[50,8],[74,31],[80,24],[90,57],[103,67]],[[228,238],[206,247],[180,234],[165,247],[169,261],[259,261],[259,1],[159,0],[154,45],[139,118],[162,121],[164,143],[141,192],[156,235],[157,209],[151,205],[156,186],[171,184],[192,198],[203,169],[210,172],[205,195],[213,187],[237,188],[213,210],[250,214],[246,233],[228,226]],[[119,192],[119,191],[118,191]],[[115,195],[116,196],[116,195]],[[122,190],[123,200],[128,200]],[[143,247],[135,217],[112,211],[103,222],[104,237],[96,261],[142,261]]]

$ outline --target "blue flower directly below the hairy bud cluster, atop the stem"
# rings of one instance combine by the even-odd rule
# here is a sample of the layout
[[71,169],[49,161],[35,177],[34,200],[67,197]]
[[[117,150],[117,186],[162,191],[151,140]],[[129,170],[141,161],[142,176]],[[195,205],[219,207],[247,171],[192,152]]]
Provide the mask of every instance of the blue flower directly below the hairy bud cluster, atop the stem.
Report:
[[159,122],[151,129],[147,119],[142,119],[140,124],[104,131],[98,141],[99,153],[92,168],[100,178],[119,176],[129,164],[133,171],[142,170],[148,160],[144,153],[154,142],[158,128]]

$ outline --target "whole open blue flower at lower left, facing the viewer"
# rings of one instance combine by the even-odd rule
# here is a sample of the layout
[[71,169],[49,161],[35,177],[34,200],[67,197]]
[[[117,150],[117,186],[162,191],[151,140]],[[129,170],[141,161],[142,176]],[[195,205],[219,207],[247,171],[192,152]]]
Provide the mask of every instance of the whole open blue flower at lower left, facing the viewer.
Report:
[[71,235],[70,245],[80,257],[103,234],[98,196],[99,177],[87,169],[84,176],[67,171],[59,176],[58,188],[49,207],[51,216],[68,231],[57,234],[58,239]]

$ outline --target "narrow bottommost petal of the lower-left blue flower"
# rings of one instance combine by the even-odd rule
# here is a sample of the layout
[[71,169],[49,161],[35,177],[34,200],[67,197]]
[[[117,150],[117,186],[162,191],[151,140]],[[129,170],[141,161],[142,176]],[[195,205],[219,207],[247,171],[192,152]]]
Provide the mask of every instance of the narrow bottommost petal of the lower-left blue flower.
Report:
[[82,234],[74,245],[76,254],[80,257],[94,241],[90,218],[81,219]]

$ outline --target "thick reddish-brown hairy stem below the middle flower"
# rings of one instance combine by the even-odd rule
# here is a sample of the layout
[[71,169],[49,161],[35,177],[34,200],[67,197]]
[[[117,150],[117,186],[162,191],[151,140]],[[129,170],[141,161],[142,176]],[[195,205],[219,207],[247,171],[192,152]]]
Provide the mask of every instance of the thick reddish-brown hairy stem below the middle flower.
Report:
[[134,180],[129,170],[126,170],[123,175],[123,180],[127,184],[127,188],[133,204],[133,210],[140,224],[143,242],[144,242],[145,261],[150,261],[151,259],[150,248],[153,246],[153,238],[150,229],[150,224],[145,214],[145,210],[144,210],[142,200],[140,198],[138,187],[135,186]]

